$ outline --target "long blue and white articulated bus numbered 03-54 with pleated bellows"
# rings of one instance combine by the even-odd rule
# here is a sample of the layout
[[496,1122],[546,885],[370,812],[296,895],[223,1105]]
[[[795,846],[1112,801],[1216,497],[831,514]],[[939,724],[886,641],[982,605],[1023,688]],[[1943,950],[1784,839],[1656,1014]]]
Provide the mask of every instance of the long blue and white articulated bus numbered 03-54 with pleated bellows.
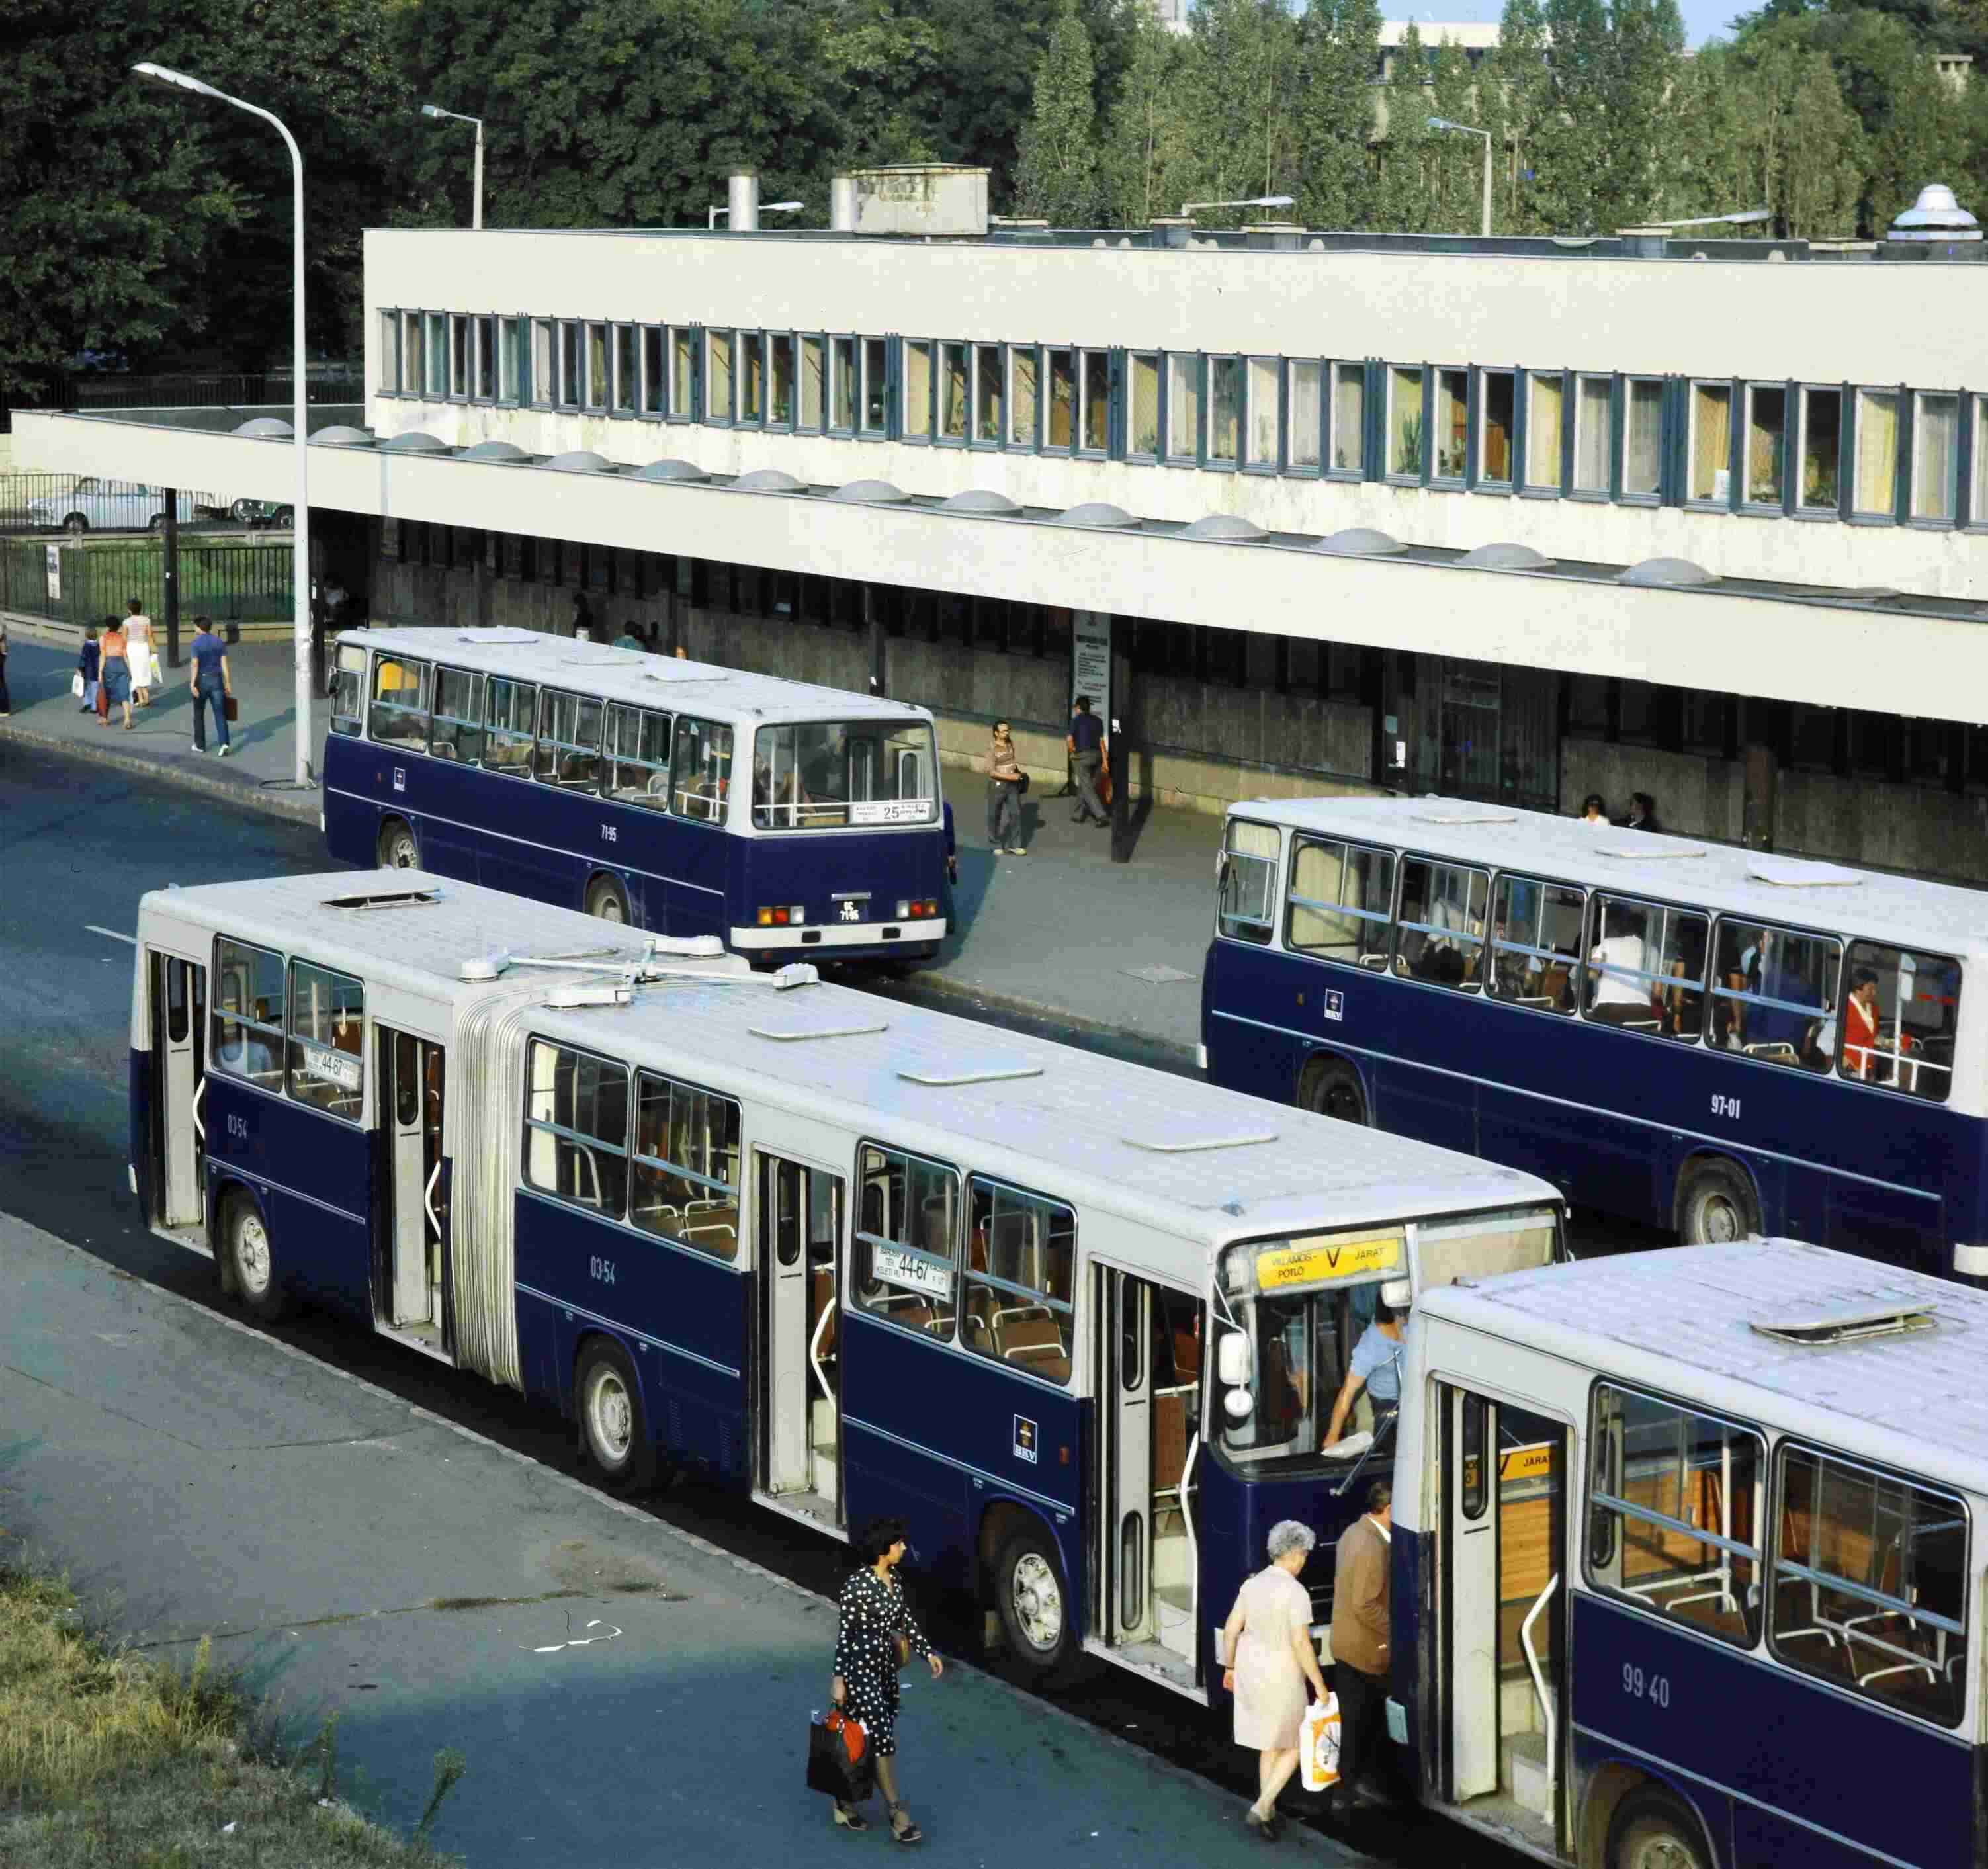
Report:
[[1382,1286],[1561,1251],[1531,1175],[400,869],[143,899],[131,1179],[258,1318],[557,1406],[612,1485],[899,1513],[1024,1668],[1203,1704],[1270,1525],[1388,1457],[1318,1451]]

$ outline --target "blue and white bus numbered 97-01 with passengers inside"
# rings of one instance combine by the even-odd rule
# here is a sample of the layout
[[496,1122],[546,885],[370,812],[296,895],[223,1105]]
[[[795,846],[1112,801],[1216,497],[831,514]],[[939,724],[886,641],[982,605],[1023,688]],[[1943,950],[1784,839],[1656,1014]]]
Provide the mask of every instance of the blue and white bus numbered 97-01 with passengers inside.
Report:
[[1684,1241],[1988,1276],[1988,897],[1441,797],[1233,805],[1217,1084]]

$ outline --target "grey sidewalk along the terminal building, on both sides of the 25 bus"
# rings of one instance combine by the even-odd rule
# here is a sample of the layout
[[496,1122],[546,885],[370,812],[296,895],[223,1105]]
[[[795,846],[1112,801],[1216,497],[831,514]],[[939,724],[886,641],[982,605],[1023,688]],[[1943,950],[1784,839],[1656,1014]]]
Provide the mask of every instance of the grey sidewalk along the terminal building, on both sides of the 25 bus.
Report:
[[[133,732],[97,726],[70,696],[74,632],[12,622],[8,686],[16,740],[318,823],[318,791],[284,789],[292,769],[288,642],[241,642],[229,672],[241,698],[235,752],[195,754],[187,670],[167,670],[151,708],[133,708]],[[191,640],[191,628],[183,640]],[[163,652],[163,644],[161,644]],[[312,769],[324,758],[326,704],[312,708]],[[1221,819],[1151,811],[1131,863],[1111,861],[1111,833],[1070,821],[1070,799],[1048,787],[1024,799],[1026,857],[996,857],[986,839],[986,779],[944,775],[960,845],[954,925],[920,994],[964,998],[1050,1022],[1131,1034],[1155,1058],[1191,1062],[1201,1022],[1201,962],[1215,913]],[[1135,805],[1137,809],[1137,805]],[[1149,970],[1147,974],[1135,972]]]

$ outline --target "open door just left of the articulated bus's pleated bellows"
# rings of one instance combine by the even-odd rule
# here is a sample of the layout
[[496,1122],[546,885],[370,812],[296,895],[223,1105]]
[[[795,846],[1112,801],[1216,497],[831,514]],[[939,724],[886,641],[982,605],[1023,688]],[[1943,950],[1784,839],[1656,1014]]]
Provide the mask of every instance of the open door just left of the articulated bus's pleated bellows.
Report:
[[376,1028],[386,1171],[374,1320],[447,1356],[447,1167],[441,1157],[443,1048]]

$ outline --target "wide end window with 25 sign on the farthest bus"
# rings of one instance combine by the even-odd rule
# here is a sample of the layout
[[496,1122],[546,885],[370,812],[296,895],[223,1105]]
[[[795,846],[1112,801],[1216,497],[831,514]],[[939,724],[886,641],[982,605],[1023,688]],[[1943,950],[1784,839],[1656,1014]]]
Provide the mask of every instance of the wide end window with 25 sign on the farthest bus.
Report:
[[761,831],[938,821],[938,762],[922,720],[821,720],[759,728],[751,821]]

